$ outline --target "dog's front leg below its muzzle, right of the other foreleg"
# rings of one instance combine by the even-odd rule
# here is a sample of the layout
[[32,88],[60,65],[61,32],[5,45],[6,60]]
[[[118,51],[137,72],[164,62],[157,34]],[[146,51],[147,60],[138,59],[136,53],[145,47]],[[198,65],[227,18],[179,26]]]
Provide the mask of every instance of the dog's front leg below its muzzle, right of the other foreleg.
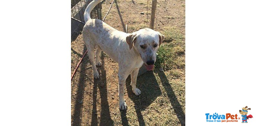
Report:
[[132,73],[131,73],[132,92],[133,92],[135,95],[140,95],[140,94],[141,94],[140,89],[136,88],[136,82],[137,82],[138,72],[139,72],[139,68],[138,68],[138,69],[135,69],[135,70],[132,70]]

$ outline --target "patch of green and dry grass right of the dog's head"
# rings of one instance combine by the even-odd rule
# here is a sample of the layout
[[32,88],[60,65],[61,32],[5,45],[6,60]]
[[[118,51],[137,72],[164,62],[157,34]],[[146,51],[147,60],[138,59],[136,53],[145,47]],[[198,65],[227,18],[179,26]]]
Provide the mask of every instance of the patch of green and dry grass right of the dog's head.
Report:
[[185,37],[179,30],[164,27],[164,43],[158,49],[156,67],[165,70],[185,68]]

